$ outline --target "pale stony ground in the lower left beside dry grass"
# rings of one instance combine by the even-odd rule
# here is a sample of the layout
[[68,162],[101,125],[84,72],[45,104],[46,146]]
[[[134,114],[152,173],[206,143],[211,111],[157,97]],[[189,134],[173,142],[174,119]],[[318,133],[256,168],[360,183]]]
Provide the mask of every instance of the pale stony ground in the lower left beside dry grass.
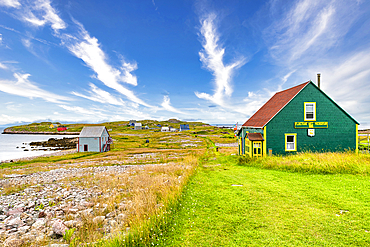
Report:
[[[42,243],[68,246],[62,244],[65,243],[63,234],[68,229],[83,227],[88,218],[101,225],[98,230],[109,237],[125,222],[131,202],[122,201],[116,205],[117,210],[109,211],[108,205],[96,203],[95,199],[109,197],[113,191],[101,191],[98,186],[84,188],[79,186],[78,180],[66,182],[66,179],[111,176],[142,168],[140,165],[62,167],[27,175],[4,176],[6,178],[0,180],[0,243],[13,247],[27,242],[40,244],[37,246],[42,246]],[[24,186],[25,189],[4,193],[9,186]]]

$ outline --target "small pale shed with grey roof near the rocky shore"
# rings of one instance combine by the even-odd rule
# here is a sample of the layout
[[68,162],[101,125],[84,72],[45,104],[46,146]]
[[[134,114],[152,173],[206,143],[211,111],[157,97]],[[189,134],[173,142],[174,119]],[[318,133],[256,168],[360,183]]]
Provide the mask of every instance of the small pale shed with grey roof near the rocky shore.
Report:
[[86,126],[78,137],[78,152],[106,152],[111,148],[113,139],[105,126]]

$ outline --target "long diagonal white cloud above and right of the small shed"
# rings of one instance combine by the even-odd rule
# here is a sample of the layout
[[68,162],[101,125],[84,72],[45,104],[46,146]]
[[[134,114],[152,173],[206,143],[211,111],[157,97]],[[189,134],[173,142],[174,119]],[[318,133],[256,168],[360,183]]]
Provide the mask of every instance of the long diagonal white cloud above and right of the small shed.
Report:
[[136,63],[123,62],[121,70],[112,67],[108,64],[106,55],[100,48],[98,39],[90,37],[89,33],[80,23],[76,22],[76,24],[80,28],[80,37],[73,37],[71,35],[61,36],[62,41],[70,52],[82,59],[96,73],[96,78],[106,86],[115,89],[135,103],[150,107],[150,105],[139,99],[133,91],[120,84],[120,82],[126,82],[131,85],[137,85],[136,76],[131,74],[133,70],[137,69]]

